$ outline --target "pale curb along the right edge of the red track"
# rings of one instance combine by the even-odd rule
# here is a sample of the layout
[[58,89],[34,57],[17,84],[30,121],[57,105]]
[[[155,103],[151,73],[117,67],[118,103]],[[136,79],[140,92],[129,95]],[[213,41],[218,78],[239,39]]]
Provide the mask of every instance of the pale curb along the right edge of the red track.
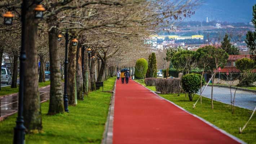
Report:
[[[135,81],[135,82],[137,82],[137,81]],[[137,83],[138,83],[138,82],[137,82]],[[140,83],[138,83],[138,84],[140,84]],[[140,85],[142,85],[142,84],[140,84]],[[142,86],[144,86],[144,85],[142,85]],[[145,86],[144,86],[144,87],[145,87]],[[150,89],[149,89],[149,88],[147,88],[147,87],[145,87],[145,88],[146,88],[146,89],[148,89],[148,90],[150,90]],[[171,101],[169,101],[169,100],[167,100],[167,99],[163,98],[162,96],[160,96],[160,95],[156,94],[156,93],[155,93],[154,91],[152,91],[152,90],[150,90],[150,92],[154,93],[154,94],[155,94],[155,95],[157,95],[159,98],[164,99],[164,100],[166,100],[167,102],[169,102],[169,103],[171,103],[171,104],[175,105],[176,107],[178,107],[178,108],[182,109],[182,110],[183,110],[183,111],[185,111],[186,113],[191,114],[192,116],[194,116],[194,117],[198,118],[199,120],[201,120],[201,121],[203,121],[203,122],[207,123],[209,126],[212,126],[214,129],[216,129],[216,130],[220,131],[222,134],[225,134],[225,135],[229,136],[231,139],[233,139],[233,140],[237,141],[238,143],[246,144],[246,143],[245,143],[244,141],[242,141],[241,139],[239,139],[239,138],[237,138],[237,137],[235,137],[235,136],[233,136],[233,135],[229,134],[228,132],[226,132],[226,131],[224,131],[224,130],[220,129],[219,127],[217,127],[217,126],[213,125],[211,122],[208,122],[208,121],[204,120],[202,117],[199,117],[199,116],[197,116],[196,114],[192,114],[192,113],[190,113],[190,112],[189,112],[189,111],[187,111],[186,109],[184,109],[184,108],[182,108],[182,107],[178,106],[177,104],[175,104],[175,103],[173,103],[173,102],[171,102]]]

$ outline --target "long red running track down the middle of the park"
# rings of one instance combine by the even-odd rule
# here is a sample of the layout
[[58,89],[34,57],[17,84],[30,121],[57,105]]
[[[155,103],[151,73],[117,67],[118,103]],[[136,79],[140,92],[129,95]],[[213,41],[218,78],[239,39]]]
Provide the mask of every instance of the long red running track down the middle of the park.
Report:
[[113,144],[186,143],[238,142],[135,81],[116,82]]

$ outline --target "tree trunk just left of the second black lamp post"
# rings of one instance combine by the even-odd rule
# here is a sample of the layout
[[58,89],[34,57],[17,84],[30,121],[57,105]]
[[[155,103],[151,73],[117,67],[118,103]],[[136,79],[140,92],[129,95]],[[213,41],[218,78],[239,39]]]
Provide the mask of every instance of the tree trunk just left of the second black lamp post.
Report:
[[[54,19],[52,19],[55,22]],[[52,27],[53,25],[49,25]],[[64,112],[63,87],[61,82],[61,72],[59,69],[59,53],[58,53],[58,31],[52,28],[48,32],[49,37],[49,55],[50,55],[50,103],[49,115]]]

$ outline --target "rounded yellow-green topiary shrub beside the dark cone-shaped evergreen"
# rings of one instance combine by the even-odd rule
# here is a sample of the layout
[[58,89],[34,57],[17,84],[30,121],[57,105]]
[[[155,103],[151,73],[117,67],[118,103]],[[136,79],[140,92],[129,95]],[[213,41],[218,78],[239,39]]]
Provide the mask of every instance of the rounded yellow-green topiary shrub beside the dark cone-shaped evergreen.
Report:
[[135,66],[135,78],[144,79],[147,72],[147,66],[148,64],[146,59],[138,59]]

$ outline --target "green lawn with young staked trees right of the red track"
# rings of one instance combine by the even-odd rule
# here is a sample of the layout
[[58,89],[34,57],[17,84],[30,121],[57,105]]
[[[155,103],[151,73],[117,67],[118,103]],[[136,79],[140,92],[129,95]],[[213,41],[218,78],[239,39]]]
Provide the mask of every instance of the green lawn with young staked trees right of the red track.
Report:
[[[145,84],[142,84],[145,85]],[[155,91],[155,87],[146,86],[149,89]],[[231,114],[231,106],[228,104],[214,101],[214,109],[211,108],[211,99],[202,99],[197,103],[196,108],[193,109],[193,104],[198,99],[199,95],[195,95],[192,102],[189,98],[185,98],[185,94],[176,96],[177,94],[160,94],[165,99],[174,102],[180,107],[186,109],[190,113],[196,114],[199,117],[211,122],[222,130],[242,139],[246,143],[256,144],[256,115],[254,115],[251,121],[248,123],[243,134],[239,134],[239,127],[243,127],[252,114],[252,111],[244,108],[235,107],[235,113]]]

